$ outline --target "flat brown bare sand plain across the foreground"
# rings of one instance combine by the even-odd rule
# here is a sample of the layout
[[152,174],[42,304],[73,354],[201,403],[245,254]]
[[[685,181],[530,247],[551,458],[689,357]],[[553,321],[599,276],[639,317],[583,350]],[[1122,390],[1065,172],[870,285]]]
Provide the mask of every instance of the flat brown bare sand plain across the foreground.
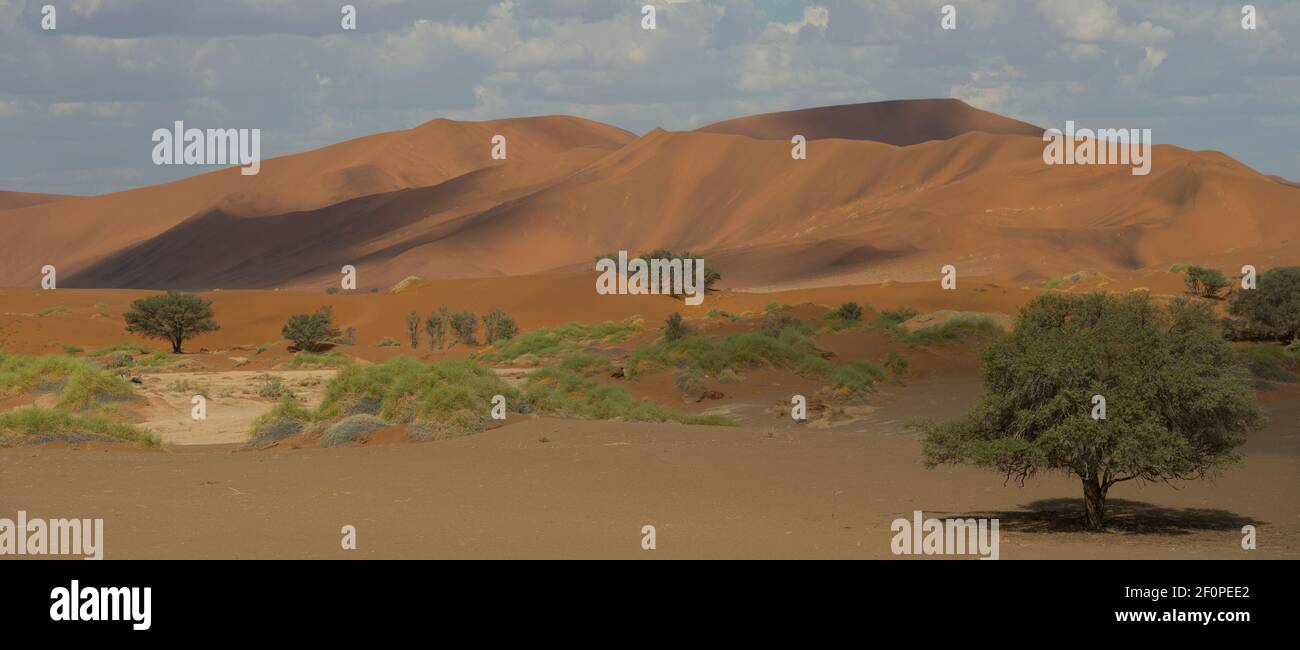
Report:
[[1216,484],[1117,486],[1114,529],[1093,534],[1067,517],[1076,481],[927,471],[915,438],[888,433],[970,389],[916,382],[867,430],[536,419],[354,448],[8,448],[0,512],[104,517],[109,558],[892,558],[889,524],[913,510],[1000,517],[1004,559],[1300,558],[1300,402],[1268,404],[1269,429]]

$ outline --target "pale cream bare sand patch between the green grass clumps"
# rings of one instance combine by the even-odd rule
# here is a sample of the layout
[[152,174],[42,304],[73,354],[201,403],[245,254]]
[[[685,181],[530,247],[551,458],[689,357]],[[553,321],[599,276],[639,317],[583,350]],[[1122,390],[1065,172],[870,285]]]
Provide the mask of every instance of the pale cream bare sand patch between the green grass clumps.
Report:
[[[276,404],[274,399],[256,394],[257,377],[280,377],[299,403],[316,407],[334,373],[334,369],[320,369],[144,374],[138,393],[146,403],[138,424],[152,429],[166,445],[243,443],[252,430],[252,421]],[[190,390],[177,390],[179,387]],[[207,391],[204,420],[191,417],[190,400],[196,387]]]

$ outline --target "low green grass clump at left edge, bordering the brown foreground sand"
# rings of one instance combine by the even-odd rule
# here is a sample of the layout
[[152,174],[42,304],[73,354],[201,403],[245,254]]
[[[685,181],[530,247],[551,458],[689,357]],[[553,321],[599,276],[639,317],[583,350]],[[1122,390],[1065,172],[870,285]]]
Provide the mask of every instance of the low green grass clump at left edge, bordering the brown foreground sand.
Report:
[[39,407],[0,413],[0,445],[90,441],[160,445],[153,432],[107,417]]

